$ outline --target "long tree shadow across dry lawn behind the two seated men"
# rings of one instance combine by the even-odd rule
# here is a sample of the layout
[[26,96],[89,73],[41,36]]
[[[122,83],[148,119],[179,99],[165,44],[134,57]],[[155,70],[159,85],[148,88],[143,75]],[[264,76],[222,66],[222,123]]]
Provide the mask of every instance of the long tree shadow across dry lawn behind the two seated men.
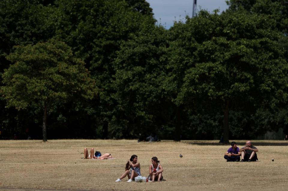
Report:
[[[230,141],[231,143],[232,141]],[[240,148],[241,146],[244,146],[246,141],[243,140],[235,140],[237,143],[238,147]],[[230,145],[230,144],[224,144],[224,143],[219,143],[216,140],[193,140],[188,142],[189,144],[192,145]],[[257,146],[288,146],[288,141],[285,140],[252,140],[252,145]]]

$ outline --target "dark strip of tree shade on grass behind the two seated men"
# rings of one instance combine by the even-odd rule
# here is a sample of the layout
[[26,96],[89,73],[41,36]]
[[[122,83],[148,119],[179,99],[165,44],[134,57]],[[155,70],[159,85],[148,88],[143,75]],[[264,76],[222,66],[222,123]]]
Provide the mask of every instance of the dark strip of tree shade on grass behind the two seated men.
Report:
[[[242,142],[242,141],[235,141],[238,145],[239,148],[241,148],[242,146],[245,145],[245,142]],[[189,144],[192,144],[192,145],[214,145],[214,146],[217,146],[217,145],[229,145],[230,144],[224,144],[224,143],[213,143],[211,141],[201,141],[201,142],[190,142]],[[287,142],[266,142],[266,141],[255,141],[255,142],[252,142],[252,145],[253,146],[288,146],[288,141]]]

